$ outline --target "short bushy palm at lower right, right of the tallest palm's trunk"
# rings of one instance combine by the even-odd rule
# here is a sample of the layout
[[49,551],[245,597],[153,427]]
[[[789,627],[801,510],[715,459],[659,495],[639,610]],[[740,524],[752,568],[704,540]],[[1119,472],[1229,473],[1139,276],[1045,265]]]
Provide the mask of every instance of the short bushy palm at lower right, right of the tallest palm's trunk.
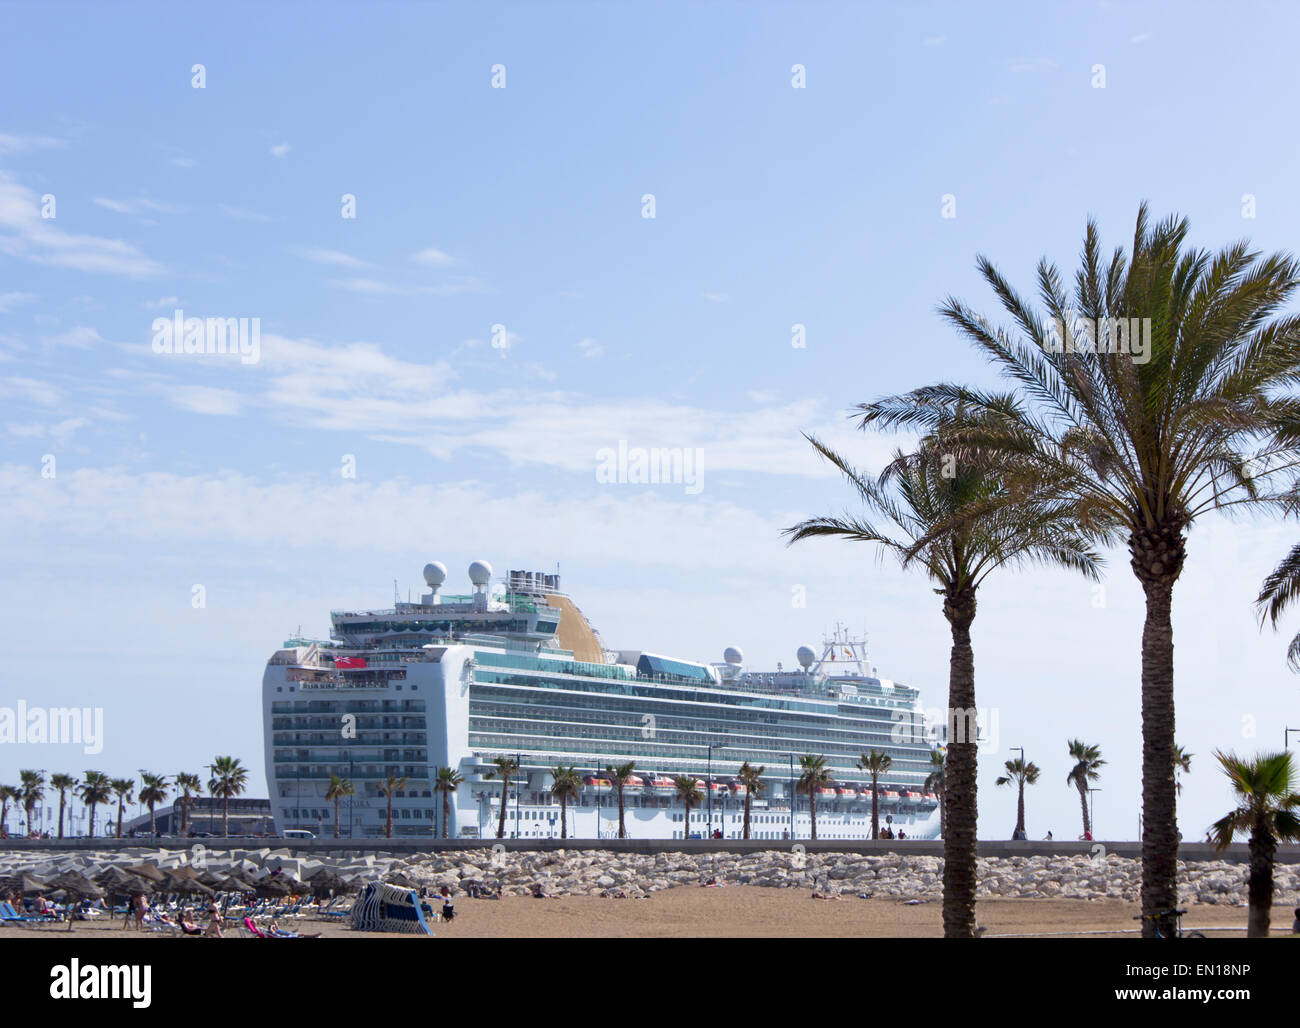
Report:
[[1251,912],[1247,938],[1268,938],[1269,912],[1273,908],[1273,859],[1278,840],[1300,840],[1300,793],[1296,791],[1296,768],[1290,752],[1262,754],[1254,759],[1216,751],[1232,782],[1240,804],[1214,823],[1210,829],[1218,849],[1226,849],[1238,832],[1249,832],[1251,875],[1247,898]]

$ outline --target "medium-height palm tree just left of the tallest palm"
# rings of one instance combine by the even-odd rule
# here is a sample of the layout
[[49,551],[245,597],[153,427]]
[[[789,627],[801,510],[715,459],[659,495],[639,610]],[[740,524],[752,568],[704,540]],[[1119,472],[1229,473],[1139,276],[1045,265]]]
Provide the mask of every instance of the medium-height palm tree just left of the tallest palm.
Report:
[[[963,417],[957,415],[936,420],[935,428],[946,431],[962,424]],[[1026,563],[1057,564],[1096,578],[1101,560],[1065,503],[1032,500],[1014,507],[996,506],[982,516],[953,524],[961,513],[988,506],[1013,490],[984,461],[974,459],[978,455],[954,460],[937,435],[922,441],[910,456],[896,452],[879,481],[867,478],[816,439],[810,441],[840,469],[868,512],[883,515],[893,528],[878,528],[870,520],[850,516],[815,517],[788,529],[790,541],[835,535],[876,543],[904,568],[919,565],[944,599],[944,617],[952,633],[950,738],[944,768],[944,934],[974,938],[978,729],[971,624],[979,587],[997,568]]]

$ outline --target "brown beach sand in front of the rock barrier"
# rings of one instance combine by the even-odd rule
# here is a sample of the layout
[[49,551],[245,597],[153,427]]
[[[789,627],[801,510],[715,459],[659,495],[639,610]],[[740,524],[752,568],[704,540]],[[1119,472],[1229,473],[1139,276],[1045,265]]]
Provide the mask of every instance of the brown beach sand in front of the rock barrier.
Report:
[[[649,899],[603,899],[560,897],[532,899],[469,899],[456,897],[456,918],[436,924],[438,938],[620,938],[620,937],[857,937],[936,938],[942,936],[941,905],[936,901],[907,906],[892,899],[812,899],[806,889],[682,886],[653,894]],[[1184,931],[1206,932],[1212,938],[1243,937],[1245,907],[1191,905]],[[982,899],[976,919],[985,938],[1015,934],[1115,937],[1132,933],[1138,923],[1135,903],[1119,899]],[[1294,912],[1274,907],[1273,934],[1290,933]],[[295,919],[290,931],[321,932],[326,938],[413,938],[384,933],[352,932],[344,925]],[[231,937],[238,933],[230,932]],[[113,925],[78,921],[72,932],[60,928],[0,927],[0,938],[16,936],[81,938],[166,938],[122,931]]]

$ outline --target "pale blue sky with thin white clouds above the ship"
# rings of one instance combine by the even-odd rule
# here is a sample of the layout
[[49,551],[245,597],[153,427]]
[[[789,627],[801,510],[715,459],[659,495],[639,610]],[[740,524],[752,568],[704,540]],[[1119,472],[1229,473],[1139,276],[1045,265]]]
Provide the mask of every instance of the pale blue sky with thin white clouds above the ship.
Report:
[[[848,408],[988,381],[933,313],[948,294],[993,312],[976,253],[1028,286],[1044,253],[1072,270],[1088,216],[1127,243],[1141,199],[1202,246],[1294,246],[1296,22],[1262,4],[4,5],[22,45],[0,64],[0,704],[103,706],[105,747],[5,747],[0,781],[234,752],[263,793],[266,656],[436,559],[450,585],[476,558],[558,561],[619,647],[737,645],[764,668],[842,620],[939,704],[930,585],[863,547],[785,548],[781,528],[848,502],[800,433],[876,465],[897,441]],[[155,353],[177,308],[260,318],[260,360]],[[623,439],[698,448],[703,489],[598,482]],[[1227,803],[1213,747],[1300,725],[1286,637],[1249,606],[1291,542],[1192,534],[1188,836]],[[1122,554],[1110,567],[1104,607],[1050,572],[982,597],[1001,738],[982,834],[1014,821],[993,778],[1019,745],[1045,772],[1031,833],[1078,833],[1071,736],[1112,762],[1101,833],[1136,832],[1141,598]]]

